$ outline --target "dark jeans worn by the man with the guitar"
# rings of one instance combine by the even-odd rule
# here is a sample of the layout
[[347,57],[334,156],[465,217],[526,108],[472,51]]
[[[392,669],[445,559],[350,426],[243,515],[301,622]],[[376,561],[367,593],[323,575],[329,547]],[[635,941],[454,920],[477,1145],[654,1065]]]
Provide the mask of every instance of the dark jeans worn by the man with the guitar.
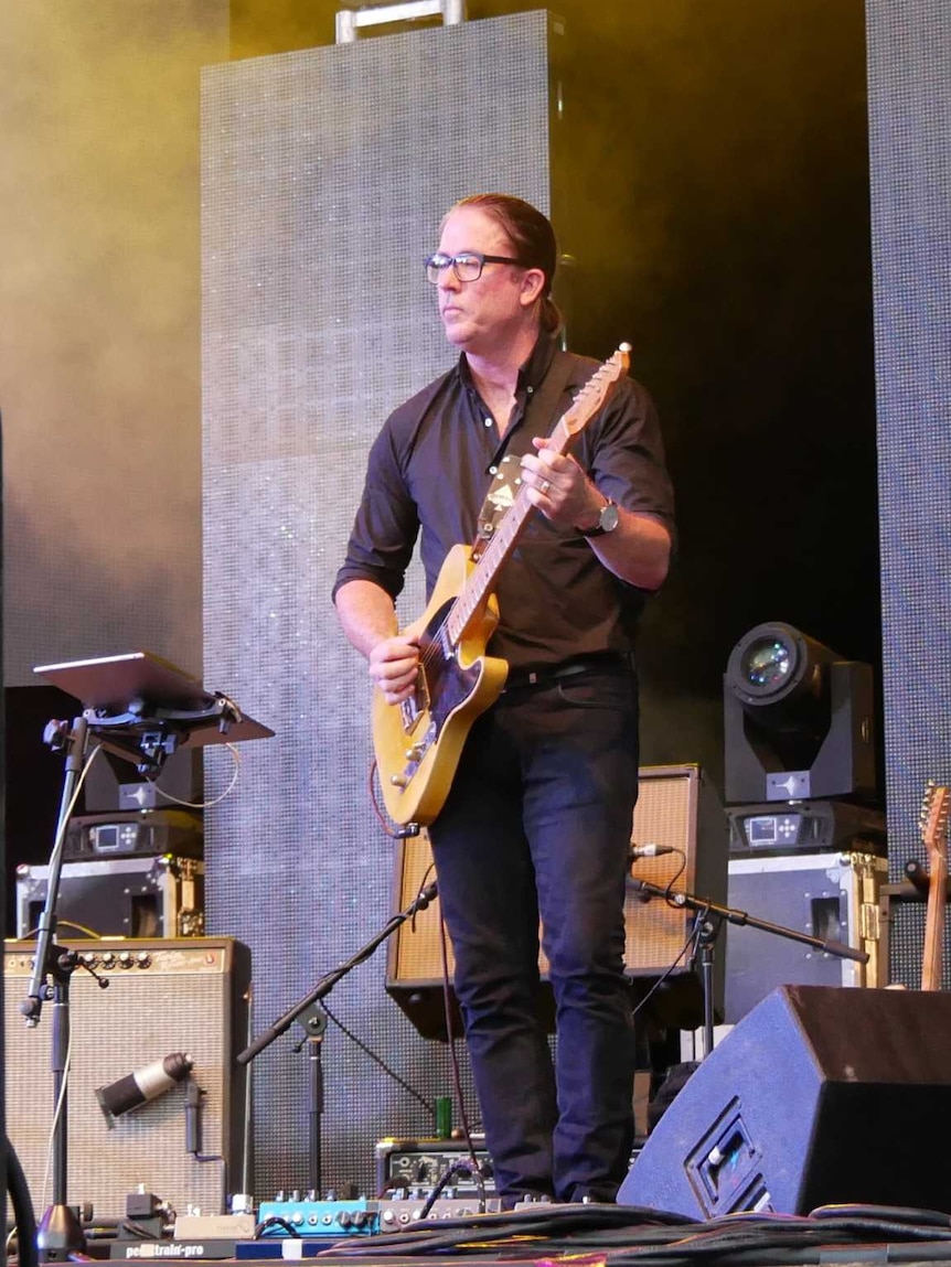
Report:
[[[430,829],[455,990],[503,1196],[612,1200],[633,1139],[624,888],[637,679],[596,669],[478,718]],[[557,1059],[538,1021],[538,931]]]

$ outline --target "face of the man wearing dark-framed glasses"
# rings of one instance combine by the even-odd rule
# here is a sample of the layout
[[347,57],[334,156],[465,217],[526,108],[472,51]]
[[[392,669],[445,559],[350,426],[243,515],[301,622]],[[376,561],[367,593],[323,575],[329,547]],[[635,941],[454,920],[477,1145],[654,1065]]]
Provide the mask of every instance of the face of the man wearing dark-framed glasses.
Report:
[[[450,212],[439,239],[443,255],[481,251],[514,256],[505,231],[477,207]],[[459,281],[453,266],[439,277],[439,315],[450,343],[465,352],[489,353],[505,343],[526,318],[526,270],[512,264],[486,264],[478,281]]]

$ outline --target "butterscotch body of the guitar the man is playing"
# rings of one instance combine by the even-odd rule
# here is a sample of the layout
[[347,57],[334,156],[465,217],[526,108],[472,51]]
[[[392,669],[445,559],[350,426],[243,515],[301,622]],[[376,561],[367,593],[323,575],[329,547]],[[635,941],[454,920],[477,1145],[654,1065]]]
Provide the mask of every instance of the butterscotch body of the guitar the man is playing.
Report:
[[373,746],[383,803],[394,822],[426,826],[443,808],[476,718],[495,703],[508,665],[487,656],[486,645],[498,623],[498,604],[489,595],[453,642],[446,616],[476,565],[469,546],[446,555],[432,597],[406,632],[420,639],[420,674],[410,701],[388,704],[373,698]]

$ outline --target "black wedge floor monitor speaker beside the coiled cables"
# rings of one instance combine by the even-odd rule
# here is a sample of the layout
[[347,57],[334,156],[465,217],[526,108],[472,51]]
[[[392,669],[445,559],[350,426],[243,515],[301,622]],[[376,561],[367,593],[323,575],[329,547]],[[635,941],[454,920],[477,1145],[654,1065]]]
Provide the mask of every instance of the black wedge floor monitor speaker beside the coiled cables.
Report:
[[621,1185],[700,1219],[861,1202],[951,1213],[951,995],[781,986],[696,1068]]

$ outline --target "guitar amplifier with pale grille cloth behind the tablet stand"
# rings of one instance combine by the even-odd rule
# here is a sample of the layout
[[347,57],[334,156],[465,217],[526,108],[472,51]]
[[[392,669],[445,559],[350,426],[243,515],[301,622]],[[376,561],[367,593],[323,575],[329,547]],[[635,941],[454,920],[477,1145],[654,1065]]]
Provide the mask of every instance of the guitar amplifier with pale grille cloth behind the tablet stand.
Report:
[[[223,1214],[227,1194],[243,1191],[245,1069],[235,1055],[247,1041],[250,955],[231,938],[161,938],[63,943],[109,982],[82,968],[70,983],[68,1187],[71,1205],[91,1202],[96,1219],[126,1216],[138,1185],[184,1213]],[[19,1011],[30,987],[33,949],[6,941],[6,1129],[39,1218],[52,1126],[53,1003],[28,1029]],[[200,1087],[199,1154],[186,1150],[186,1082],[112,1119],[96,1090],[176,1052],[194,1062]]]

